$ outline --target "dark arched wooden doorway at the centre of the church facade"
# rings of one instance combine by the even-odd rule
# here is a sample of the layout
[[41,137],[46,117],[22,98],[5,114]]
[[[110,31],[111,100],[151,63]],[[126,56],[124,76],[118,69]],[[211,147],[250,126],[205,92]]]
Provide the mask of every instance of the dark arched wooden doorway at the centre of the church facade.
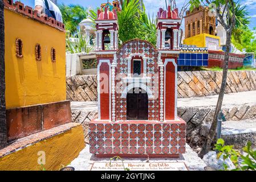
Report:
[[141,88],[133,88],[127,94],[127,119],[148,120],[148,94]]

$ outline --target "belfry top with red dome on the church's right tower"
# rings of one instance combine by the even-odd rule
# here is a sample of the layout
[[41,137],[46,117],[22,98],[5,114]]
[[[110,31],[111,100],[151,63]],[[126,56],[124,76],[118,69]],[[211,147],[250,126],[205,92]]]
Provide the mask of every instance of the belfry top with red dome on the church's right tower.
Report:
[[178,9],[168,10],[159,9],[157,13],[157,49],[177,50],[180,46],[180,22]]

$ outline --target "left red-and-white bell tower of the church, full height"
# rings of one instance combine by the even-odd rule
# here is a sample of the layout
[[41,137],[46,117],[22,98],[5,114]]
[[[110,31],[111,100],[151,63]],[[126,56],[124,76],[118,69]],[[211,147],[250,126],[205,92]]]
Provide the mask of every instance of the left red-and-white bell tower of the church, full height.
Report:
[[[99,119],[115,121],[115,73],[117,66],[118,24],[117,10],[109,3],[97,10],[96,46]],[[100,91],[100,90],[102,91]]]

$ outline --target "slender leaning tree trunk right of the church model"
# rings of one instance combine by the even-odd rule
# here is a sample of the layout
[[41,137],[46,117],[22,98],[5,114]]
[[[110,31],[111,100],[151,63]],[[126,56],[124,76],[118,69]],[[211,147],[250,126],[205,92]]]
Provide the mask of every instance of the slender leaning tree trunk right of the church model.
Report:
[[225,59],[224,59],[224,68],[223,68],[223,75],[222,75],[222,83],[221,83],[221,90],[218,97],[218,102],[216,106],[216,110],[213,117],[213,123],[210,127],[210,131],[208,133],[208,136],[206,137],[206,141],[204,143],[204,146],[202,147],[202,150],[199,154],[200,158],[203,158],[205,154],[207,154],[210,150],[210,147],[212,146],[212,142],[214,140],[214,137],[216,136],[216,129],[217,129],[217,123],[218,123],[218,114],[221,111],[222,102],[225,94],[226,89],[226,82],[227,82],[227,71],[229,67],[229,52],[231,47],[231,34],[232,30],[227,31],[227,39],[226,39],[226,52],[225,52]]

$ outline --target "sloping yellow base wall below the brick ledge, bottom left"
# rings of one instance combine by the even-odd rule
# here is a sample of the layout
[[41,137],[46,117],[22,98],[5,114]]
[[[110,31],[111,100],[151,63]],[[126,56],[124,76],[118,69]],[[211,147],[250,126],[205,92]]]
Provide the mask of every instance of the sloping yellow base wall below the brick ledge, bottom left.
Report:
[[[59,170],[78,157],[84,148],[83,128],[74,127],[66,133],[56,135],[13,154],[0,158],[0,171],[46,171]],[[38,152],[46,154],[46,164],[38,164]]]

